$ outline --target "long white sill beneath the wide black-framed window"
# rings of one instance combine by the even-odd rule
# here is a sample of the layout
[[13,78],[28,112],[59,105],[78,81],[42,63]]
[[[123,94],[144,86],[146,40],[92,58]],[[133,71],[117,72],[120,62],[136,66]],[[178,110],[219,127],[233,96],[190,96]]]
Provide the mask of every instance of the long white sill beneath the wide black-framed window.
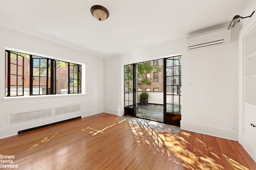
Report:
[[52,95],[37,95],[37,96],[13,96],[4,97],[3,101],[17,101],[17,100],[33,100],[33,99],[49,99],[49,98],[68,98],[74,96],[86,96],[86,94],[52,94]]

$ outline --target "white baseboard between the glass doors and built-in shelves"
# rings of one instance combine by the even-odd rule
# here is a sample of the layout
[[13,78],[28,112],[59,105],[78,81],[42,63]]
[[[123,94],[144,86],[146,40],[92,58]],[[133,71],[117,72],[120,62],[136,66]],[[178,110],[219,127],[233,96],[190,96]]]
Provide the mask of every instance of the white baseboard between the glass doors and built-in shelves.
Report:
[[214,127],[208,125],[198,125],[180,121],[180,129],[186,131],[192,131],[196,133],[202,133],[204,135],[210,135],[214,137],[220,137],[224,139],[230,139],[238,141],[238,131],[234,129],[226,129],[221,127]]

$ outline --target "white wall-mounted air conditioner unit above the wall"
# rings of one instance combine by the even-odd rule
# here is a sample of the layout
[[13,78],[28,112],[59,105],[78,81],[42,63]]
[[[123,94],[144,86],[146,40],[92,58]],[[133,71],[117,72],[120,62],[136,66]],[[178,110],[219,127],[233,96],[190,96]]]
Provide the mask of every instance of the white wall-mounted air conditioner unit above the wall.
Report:
[[202,47],[210,47],[214,45],[222,45],[229,43],[230,30],[218,29],[206,33],[193,35],[187,39],[187,50],[200,49]]

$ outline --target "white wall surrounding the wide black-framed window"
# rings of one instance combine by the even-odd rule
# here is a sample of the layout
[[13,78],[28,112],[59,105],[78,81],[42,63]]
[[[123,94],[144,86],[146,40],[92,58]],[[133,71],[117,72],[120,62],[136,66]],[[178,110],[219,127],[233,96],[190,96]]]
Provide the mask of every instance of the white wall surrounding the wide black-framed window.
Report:
[[[0,28],[0,139],[11,135],[16,135],[18,131],[70,119],[73,117],[86,117],[104,111],[104,60],[88,56],[82,52],[68,49],[60,45],[48,43],[43,40],[16,33],[4,28]],[[4,100],[5,96],[5,48],[14,48],[32,53],[56,57],[68,61],[84,63],[86,69],[86,94],[73,96],[40,96],[36,98],[28,97],[26,100]],[[83,75],[84,76],[84,75]],[[78,112],[66,114],[58,117],[50,117],[37,121],[30,121],[10,125],[8,123],[10,113],[22,113],[36,111],[38,109],[52,109],[58,106],[81,104]]]

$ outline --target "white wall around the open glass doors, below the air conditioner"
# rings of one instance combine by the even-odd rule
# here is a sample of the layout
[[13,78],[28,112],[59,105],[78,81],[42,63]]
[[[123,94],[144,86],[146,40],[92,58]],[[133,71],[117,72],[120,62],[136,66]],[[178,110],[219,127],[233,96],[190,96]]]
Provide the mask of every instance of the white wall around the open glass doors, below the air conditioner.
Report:
[[124,65],[181,53],[181,129],[237,141],[239,31],[232,29],[225,45],[186,51],[184,39],[105,59],[105,112],[124,114]]

